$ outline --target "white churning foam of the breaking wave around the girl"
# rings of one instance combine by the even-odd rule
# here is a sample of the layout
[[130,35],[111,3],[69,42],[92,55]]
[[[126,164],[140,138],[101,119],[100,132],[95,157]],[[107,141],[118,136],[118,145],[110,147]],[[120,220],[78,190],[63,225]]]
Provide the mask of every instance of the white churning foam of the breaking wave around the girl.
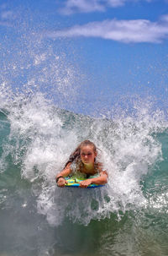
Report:
[[[28,99],[19,95],[13,102],[8,108],[10,132],[2,159],[11,155],[13,163],[21,166],[22,178],[32,183],[37,210],[50,225],[60,225],[66,217],[88,225],[112,213],[120,219],[127,210],[145,206],[141,181],[161,160],[161,145],[154,136],[160,130],[156,117],[144,115],[143,110],[137,118],[93,119],[62,112],[41,93]],[[97,145],[108,184],[92,191],[57,188],[56,173],[83,139]]]

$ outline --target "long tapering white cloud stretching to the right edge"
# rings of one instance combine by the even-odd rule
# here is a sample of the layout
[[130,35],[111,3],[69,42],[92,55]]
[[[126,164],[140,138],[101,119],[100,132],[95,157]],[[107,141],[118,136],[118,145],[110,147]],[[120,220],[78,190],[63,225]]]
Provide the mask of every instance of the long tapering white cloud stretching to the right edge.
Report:
[[58,37],[99,37],[124,43],[152,42],[158,43],[168,37],[168,15],[158,22],[147,19],[104,20],[86,25],[75,25],[66,30],[57,30],[46,34],[50,38]]

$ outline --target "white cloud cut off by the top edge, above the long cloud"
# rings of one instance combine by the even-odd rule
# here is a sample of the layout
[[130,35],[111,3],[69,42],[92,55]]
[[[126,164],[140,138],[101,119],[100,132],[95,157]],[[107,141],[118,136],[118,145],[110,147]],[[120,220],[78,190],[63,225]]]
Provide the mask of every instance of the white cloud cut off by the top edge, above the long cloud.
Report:
[[117,8],[126,2],[139,1],[152,2],[155,0],[66,0],[64,8],[60,8],[62,14],[91,13],[105,11],[107,8]]

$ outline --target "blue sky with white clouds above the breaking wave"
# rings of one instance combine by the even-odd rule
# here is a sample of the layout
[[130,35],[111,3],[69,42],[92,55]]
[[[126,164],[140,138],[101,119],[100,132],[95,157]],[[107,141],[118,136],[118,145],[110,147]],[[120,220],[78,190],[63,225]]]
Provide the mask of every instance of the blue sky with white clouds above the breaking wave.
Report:
[[135,101],[166,111],[168,0],[0,1],[0,37],[13,90],[91,115]]

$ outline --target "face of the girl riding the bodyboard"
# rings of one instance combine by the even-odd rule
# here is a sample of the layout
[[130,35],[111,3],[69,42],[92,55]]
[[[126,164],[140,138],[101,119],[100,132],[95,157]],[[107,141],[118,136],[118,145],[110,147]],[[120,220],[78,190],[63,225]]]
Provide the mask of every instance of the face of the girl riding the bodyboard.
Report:
[[92,165],[95,161],[97,153],[93,150],[92,145],[81,147],[81,161],[84,165]]

